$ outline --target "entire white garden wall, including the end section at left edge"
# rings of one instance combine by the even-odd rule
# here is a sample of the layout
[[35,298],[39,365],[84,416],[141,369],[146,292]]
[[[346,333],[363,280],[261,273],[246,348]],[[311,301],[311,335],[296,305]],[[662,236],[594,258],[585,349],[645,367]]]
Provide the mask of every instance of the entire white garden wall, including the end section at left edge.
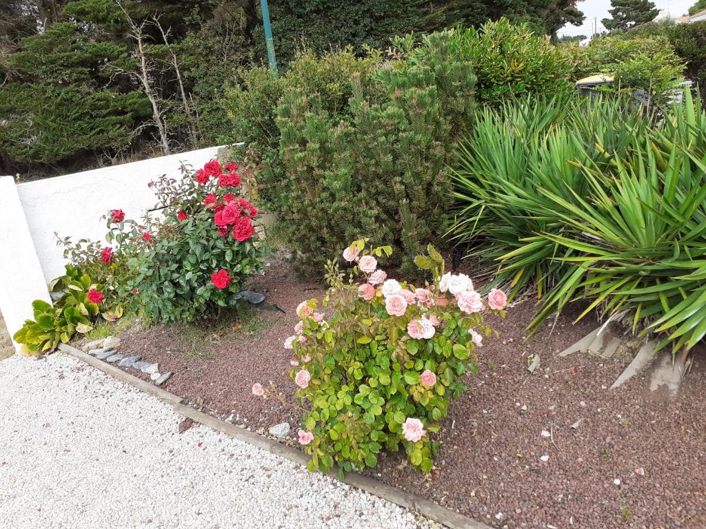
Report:
[[[182,162],[203,166],[221,147],[16,184],[0,176],[0,312],[10,334],[32,317],[32,300],[49,300],[47,283],[64,272],[56,236],[103,241],[110,209],[141,219],[157,198],[148,183],[179,178]],[[17,345],[17,344],[16,344]]]

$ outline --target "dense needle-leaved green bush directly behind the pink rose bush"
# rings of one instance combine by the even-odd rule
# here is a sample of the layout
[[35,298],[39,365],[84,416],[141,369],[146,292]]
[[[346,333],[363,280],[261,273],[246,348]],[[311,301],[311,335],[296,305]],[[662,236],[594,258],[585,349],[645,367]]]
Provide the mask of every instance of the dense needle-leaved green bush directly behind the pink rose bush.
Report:
[[424,37],[409,61],[302,54],[280,80],[256,70],[232,92],[234,137],[256,150],[261,195],[304,272],[361,233],[392,241],[411,270],[441,233],[446,164],[474,108],[453,35]]

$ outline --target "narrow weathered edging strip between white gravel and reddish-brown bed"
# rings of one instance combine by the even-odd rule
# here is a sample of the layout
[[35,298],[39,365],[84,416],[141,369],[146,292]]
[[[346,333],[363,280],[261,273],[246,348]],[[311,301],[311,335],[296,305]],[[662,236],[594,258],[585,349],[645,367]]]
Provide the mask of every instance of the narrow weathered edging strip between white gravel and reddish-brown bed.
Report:
[[[263,450],[289,459],[289,461],[294,461],[294,463],[299,463],[299,465],[306,466],[309,462],[309,456],[304,454],[304,452],[293,448],[292,446],[287,446],[267,437],[263,437],[255,432],[246,430],[245,428],[239,427],[232,424],[231,422],[226,422],[225,420],[220,420],[215,418],[213,415],[208,415],[208,413],[203,413],[202,411],[195,410],[190,406],[186,406],[181,403],[181,398],[169,393],[160,387],[150,384],[150,382],[145,382],[143,379],[130,375],[130,373],[119,369],[112,364],[102,362],[91,355],[79,351],[77,348],[68,346],[65,343],[59,345],[59,350],[64,353],[68,353],[79,360],[83,360],[85,363],[97,367],[102,372],[115,377],[116,379],[125,382],[137,389],[145,391],[152,396],[156,396],[157,399],[164,401],[164,403],[170,404],[176,413],[179,415],[184,415],[184,417],[193,420],[194,422],[200,422],[201,424],[211,427],[214,430],[218,430],[224,434],[231,437],[235,437],[243,442],[258,446]],[[329,475],[332,478],[337,478],[337,470],[332,470]],[[351,487],[356,487],[358,489],[369,492],[379,498],[391,501],[394,504],[405,507],[405,509],[412,509],[417,511],[422,516],[430,518],[433,521],[446,525],[451,529],[491,529],[489,525],[480,523],[463,516],[461,513],[457,513],[446,507],[435,504],[429,499],[417,496],[417,494],[410,494],[403,490],[395,489],[395,487],[390,487],[390,485],[385,485],[374,478],[369,478],[368,476],[361,475],[359,473],[349,472],[346,474],[343,480],[347,485]]]

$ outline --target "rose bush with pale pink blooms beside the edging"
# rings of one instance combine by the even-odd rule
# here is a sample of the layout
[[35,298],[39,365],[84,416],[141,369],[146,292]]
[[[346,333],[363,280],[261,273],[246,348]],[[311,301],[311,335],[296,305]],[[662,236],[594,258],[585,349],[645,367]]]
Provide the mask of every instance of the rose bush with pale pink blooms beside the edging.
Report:
[[[431,284],[387,279],[377,266],[391,248],[366,243],[344,250],[354,265],[347,281],[337,262],[328,262],[325,298],[299,305],[301,322],[285,341],[305,403],[299,442],[311,454],[310,470],[327,472],[334,463],[340,473],[374,467],[383,447],[402,446],[414,468],[428,472],[439,421],[466,391],[464,375],[477,373],[475,349],[492,334],[484,312],[504,316],[506,299],[495,290],[484,301],[468,276],[444,274],[431,245],[429,255],[415,260],[433,273]],[[320,309],[330,312],[328,319]],[[268,391],[255,384],[253,393]]]

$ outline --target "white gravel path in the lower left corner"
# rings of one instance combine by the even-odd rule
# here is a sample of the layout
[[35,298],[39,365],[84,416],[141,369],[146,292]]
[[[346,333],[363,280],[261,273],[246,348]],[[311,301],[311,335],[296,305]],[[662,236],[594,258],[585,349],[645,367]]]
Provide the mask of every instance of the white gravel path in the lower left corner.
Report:
[[437,528],[68,355],[0,362],[0,528]]

